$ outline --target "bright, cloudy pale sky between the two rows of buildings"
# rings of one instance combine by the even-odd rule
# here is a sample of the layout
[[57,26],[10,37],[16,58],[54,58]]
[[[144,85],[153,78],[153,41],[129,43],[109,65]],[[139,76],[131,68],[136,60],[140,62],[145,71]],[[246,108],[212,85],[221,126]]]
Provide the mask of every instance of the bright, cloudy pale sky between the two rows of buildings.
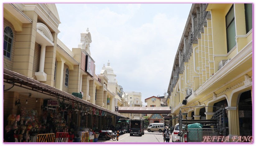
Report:
[[113,68],[124,92],[141,92],[143,105],[164,96],[192,3],[56,3],[58,38],[77,48],[89,28],[95,74]]

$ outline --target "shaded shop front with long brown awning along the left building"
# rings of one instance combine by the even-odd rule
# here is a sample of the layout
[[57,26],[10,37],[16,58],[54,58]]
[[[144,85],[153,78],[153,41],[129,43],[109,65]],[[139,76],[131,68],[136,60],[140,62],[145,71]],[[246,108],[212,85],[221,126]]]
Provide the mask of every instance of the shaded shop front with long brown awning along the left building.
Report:
[[16,72],[4,69],[3,76],[5,141],[36,142],[37,135],[60,132],[81,138],[84,131],[106,128],[115,116],[127,118]]

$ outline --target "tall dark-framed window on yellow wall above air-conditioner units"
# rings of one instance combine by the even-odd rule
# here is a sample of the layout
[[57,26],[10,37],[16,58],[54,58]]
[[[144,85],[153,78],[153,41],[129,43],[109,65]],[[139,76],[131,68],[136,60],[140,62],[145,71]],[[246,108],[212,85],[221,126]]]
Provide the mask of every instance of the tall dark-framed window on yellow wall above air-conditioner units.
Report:
[[236,45],[234,5],[226,15],[227,53]]

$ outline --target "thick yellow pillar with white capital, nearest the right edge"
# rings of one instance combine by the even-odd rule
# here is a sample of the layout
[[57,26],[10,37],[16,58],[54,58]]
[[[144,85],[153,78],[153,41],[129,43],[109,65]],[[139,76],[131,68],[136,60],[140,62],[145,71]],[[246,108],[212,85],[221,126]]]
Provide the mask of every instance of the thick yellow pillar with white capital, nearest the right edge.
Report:
[[[233,136],[238,136],[239,135],[239,128],[238,128],[238,117],[237,117],[237,111],[236,107],[226,107],[225,108],[228,111],[228,130],[229,130],[229,137],[230,137],[230,142],[232,142],[232,137]],[[236,141],[236,140],[235,140]]]

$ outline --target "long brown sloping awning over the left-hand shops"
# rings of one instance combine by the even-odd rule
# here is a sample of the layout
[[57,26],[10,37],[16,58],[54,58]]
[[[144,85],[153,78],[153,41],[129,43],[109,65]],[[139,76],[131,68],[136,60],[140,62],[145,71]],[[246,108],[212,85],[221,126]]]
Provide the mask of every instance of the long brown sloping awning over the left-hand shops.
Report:
[[[91,102],[85,101],[83,99],[80,99],[78,97],[75,97],[67,92],[61,91],[57,88],[53,88],[47,84],[41,83],[35,79],[31,79],[29,77],[26,77],[24,75],[21,75],[19,73],[16,73],[14,71],[10,71],[8,69],[3,69],[3,79],[4,82],[9,83],[9,84],[13,84],[14,86],[19,86],[19,87],[23,87],[23,88],[29,88],[30,90],[37,90],[37,92],[44,92],[44,93],[49,93],[52,96],[58,96],[58,97],[63,97],[65,99],[68,100],[74,100],[79,102],[80,104],[85,104],[85,105],[89,105],[92,107],[95,107],[97,109],[101,109],[103,111],[105,111],[106,113],[112,114],[112,115],[116,115],[116,116],[120,116],[122,118],[126,118],[129,119],[128,117],[125,117],[121,114],[115,113],[111,110],[105,109],[103,107],[100,107],[98,105],[92,104]],[[10,90],[11,91],[11,90]]]

